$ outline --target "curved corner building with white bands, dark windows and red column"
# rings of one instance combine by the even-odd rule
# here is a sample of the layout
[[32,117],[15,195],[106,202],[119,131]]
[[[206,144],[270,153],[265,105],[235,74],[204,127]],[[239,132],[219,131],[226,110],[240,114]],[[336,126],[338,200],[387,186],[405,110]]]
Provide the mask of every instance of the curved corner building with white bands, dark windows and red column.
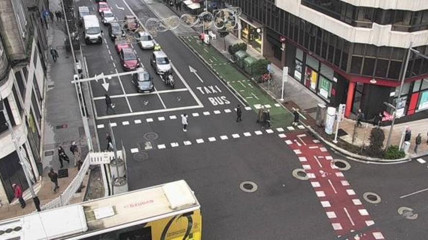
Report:
[[428,59],[410,54],[398,96],[410,43],[428,54],[428,1],[227,2],[242,8],[240,28],[261,36],[247,37],[262,40],[259,52],[328,105],[346,103],[346,117],[361,109],[373,119],[397,101],[400,122],[428,116]]

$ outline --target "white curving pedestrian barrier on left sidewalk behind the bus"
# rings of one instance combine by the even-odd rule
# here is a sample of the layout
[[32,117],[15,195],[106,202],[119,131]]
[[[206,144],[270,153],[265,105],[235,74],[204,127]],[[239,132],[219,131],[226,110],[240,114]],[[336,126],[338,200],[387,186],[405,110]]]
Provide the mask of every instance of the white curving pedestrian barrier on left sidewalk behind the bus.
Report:
[[[118,157],[122,157],[122,151],[118,151]],[[90,165],[97,164],[107,164],[110,163],[110,160],[114,159],[113,152],[90,152],[86,156],[85,160],[82,163],[82,166],[77,173],[77,175],[73,178],[70,185],[65,189],[65,191],[51,202],[43,205],[41,207],[42,210],[58,208],[70,203],[71,198],[74,193],[80,188],[83,182],[83,178],[89,170]]]

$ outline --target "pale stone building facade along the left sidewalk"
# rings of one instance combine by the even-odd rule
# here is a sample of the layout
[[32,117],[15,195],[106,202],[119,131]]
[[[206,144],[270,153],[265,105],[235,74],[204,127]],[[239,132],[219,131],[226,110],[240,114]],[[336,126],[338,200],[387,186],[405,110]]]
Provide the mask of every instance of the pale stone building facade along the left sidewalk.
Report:
[[[28,188],[24,171],[38,181],[42,172],[46,83],[46,26],[40,24],[45,0],[0,0],[0,201],[13,201],[13,183]],[[16,149],[4,112],[12,125]],[[18,152],[24,158],[21,166]],[[24,170],[25,169],[25,170]]]

